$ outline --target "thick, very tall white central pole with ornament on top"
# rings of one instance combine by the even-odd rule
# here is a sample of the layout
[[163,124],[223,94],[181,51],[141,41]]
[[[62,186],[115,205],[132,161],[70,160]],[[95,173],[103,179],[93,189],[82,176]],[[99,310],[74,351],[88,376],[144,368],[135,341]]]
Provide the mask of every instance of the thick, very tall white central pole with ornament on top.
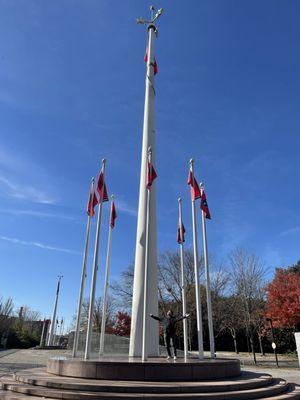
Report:
[[[153,17],[154,7],[151,7],[151,21],[141,18],[138,23],[148,24],[148,43],[147,43],[147,70],[145,87],[145,106],[143,122],[143,143],[141,156],[141,173],[139,189],[139,207],[137,220],[137,235],[134,262],[134,281],[132,296],[131,331],[129,356],[141,357],[143,347],[143,301],[144,301],[144,281],[145,281],[145,254],[146,254],[146,214],[149,208],[149,244],[148,244],[148,287],[147,287],[147,307],[153,313],[158,313],[158,293],[157,293],[157,226],[156,226],[156,188],[151,189],[150,204],[147,205],[146,182],[146,163],[148,147],[152,148],[152,160],[155,160],[155,78],[154,69],[156,68],[154,55],[154,42],[157,36],[155,21],[161,15],[162,10],[158,10]],[[146,322],[147,328],[147,354],[157,356],[159,343],[155,324],[149,319]]]

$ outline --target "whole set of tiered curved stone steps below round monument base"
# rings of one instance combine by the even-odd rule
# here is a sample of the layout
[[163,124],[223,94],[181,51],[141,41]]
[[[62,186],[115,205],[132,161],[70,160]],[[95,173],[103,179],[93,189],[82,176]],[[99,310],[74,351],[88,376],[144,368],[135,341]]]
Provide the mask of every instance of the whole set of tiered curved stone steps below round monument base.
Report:
[[[37,371],[38,370],[38,371]],[[27,374],[25,374],[25,372]],[[38,373],[39,372],[39,373]],[[256,375],[256,377],[254,377]],[[0,400],[296,400],[300,388],[281,379],[255,373],[240,378],[201,382],[133,382],[93,381],[50,376],[41,368],[22,371],[30,382],[16,381],[12,375],[1,377]],[[51,378],[51,379],[50,379]],[[68,386],[66,385],[68,383]],[[39,383],[40,385],[38,385]],[[84,386],[84,383],[86,386]],[[55,387],[47,386],[48,384]],[[98,387],[100,384],[100,390]],[[72,386],[73,385],[73,386]],[[247,386],[248,385],[248,386]],[[250,385],[250,386],[249,386]],[[73,389],[72,389],[73,388]],[[86,390],[87,388],[96,390]],[[83,390],[79,390],[83,389]],[[221,390],[222,389],[222,390]],[[207,392],[209,390],[209,392]]]

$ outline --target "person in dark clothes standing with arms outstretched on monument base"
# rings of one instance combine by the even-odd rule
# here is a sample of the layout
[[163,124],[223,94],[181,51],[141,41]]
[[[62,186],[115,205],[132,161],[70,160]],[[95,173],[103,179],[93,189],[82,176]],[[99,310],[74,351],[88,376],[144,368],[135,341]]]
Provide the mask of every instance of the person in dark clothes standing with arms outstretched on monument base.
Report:
[[162,324],[163,330],[164,330],[164,339],[165,339],[165,345],[167,347],[167,352],[168,356],[167,359],[170,359],[172,357],[171,354],[171,339],[173,343],[173,348],[174,348],[174,360],[177,359],[177,336],[176,336],[176,324],[179,321],[182,321],[184,318],[187,318],[190,314],[186,314],[180,317],[175,317],[173,314],[172,310],[169,310],[167,312],[167,316],[163,318],[159,318],[153,314],[150,314],[150,317],[155,319],[156,321],[159,321]]

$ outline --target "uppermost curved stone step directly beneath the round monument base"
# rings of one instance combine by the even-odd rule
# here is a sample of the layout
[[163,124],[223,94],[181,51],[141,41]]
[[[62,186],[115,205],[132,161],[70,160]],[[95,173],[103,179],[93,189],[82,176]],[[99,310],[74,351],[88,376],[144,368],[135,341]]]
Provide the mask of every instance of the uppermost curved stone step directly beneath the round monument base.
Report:
[[91,392],[130,393],[207,393],[256,389],[272,383],[268,374],[243,373],[239,378],[198,382],[140,382],[106,381],[53,376],[42,368],[34,368],[14,374],[17,382],[53,389]]

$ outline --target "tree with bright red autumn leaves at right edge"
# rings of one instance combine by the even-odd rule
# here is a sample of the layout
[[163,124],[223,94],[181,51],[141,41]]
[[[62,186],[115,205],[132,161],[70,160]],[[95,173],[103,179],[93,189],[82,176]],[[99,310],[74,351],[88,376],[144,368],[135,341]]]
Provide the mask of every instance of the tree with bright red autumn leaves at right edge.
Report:
[[278,268],[267,286],[266,316],[275,327],[300,328],[300,274]]

